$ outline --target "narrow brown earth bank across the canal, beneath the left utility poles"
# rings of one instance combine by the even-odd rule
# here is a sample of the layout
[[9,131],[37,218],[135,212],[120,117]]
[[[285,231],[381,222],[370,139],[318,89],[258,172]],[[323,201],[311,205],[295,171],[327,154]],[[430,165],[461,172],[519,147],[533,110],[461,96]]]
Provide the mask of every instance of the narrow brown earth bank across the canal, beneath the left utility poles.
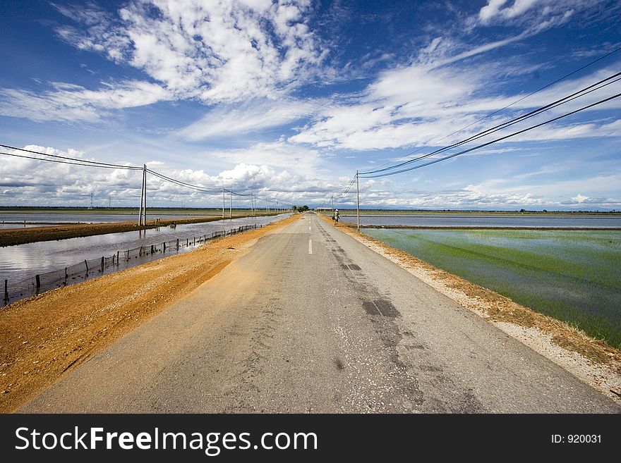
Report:
[[[233,216],[233,218],[250,217],[248,215]],[[219,216],[193,217],[193,218],[162,218],[159,225],[155,221],[147,221],[146,226],[138,226],[136,221],[111,222],[111,223],[76,223],[69,225],[7,228],[0,230],[0,246],[23,245],[28,242],[65,240],[66,238],[78,238],[92,235],[106,235],[107,233],[121,233],[135,230],[147,230],[158,226],[169,226],[172,223],[203,223],[222,220]]]

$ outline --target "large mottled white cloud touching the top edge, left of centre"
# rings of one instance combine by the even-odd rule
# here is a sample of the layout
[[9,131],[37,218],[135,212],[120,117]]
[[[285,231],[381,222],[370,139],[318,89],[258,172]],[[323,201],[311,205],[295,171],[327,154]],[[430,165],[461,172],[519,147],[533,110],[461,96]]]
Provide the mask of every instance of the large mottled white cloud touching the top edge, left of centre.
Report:
[[273,99],[310,79],[326,53],[306,24],[309,0],[132,0],[118,18],[99,19],[88,10],[59,7],[86,28],[59,35],[143,70],[181,99]]

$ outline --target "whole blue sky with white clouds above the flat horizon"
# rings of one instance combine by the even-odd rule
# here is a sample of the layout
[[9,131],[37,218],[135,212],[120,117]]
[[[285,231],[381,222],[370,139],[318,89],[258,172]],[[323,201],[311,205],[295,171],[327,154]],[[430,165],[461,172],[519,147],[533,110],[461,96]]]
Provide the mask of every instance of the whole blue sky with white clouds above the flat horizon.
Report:
[[[618,1],[4,1],[0,144],[320,206],[356,169],[432,152],[619,72],[621,51],[526,97],[621,47],[620,24]],[[620,92],[613,82],[495,137]],[[621,209],[620,108],[613,99],[361,178],[361,204]],[[0,206],[88,205],[91,193],[102,206],[139,202],[140,173],[0,160]],[[149,195],[153,206],[220,200],[154,177]]]

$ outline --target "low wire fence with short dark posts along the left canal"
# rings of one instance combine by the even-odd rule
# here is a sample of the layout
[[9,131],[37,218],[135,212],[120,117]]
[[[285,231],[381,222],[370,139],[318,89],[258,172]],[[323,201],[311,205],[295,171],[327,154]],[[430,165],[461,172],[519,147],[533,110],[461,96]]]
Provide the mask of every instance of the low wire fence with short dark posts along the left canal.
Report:
[[36,296],[42,292],[62,288],[63,286],[80,283],[90,278],[102,276],[107,273],[123,270],[145,262],[154,261],[164,257],[164,254],[176,254],[180,250],[203,245],[205,242],[215,238],[236,235],[247,230],[260,228],[260,225],[246,225],[230,230],[222,230],[192,238],[183,238],[171,241],[164,241],[153,245],[143,245],[117,251],[111,256],[102,256],[99,259],[85,259],[59,270],[47,273],[37,273],[30,278],[19,281],[4,280],[4,306],[11,304],[25,297]]

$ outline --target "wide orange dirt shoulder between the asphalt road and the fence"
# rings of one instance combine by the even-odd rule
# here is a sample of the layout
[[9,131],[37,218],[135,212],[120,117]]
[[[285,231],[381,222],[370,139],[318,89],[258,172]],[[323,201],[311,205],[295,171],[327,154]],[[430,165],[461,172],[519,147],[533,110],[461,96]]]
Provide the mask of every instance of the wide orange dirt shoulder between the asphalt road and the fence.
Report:
[[[217,275],[299,215],[0,309],[0,412],[20,405],[93,354]],[[179,222],[177,222],[179,223]]]

